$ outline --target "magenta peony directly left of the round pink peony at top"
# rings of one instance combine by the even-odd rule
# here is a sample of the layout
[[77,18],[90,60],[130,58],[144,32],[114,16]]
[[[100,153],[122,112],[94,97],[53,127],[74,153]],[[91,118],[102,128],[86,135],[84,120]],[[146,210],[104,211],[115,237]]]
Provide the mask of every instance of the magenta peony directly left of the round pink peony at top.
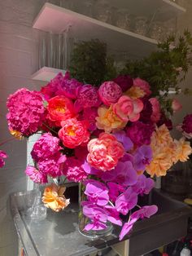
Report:
[[99,104],[98,91],[94,86],[84,85],[78,88],[74,105],[76,112],[80,112],[84,108],[98,107]]

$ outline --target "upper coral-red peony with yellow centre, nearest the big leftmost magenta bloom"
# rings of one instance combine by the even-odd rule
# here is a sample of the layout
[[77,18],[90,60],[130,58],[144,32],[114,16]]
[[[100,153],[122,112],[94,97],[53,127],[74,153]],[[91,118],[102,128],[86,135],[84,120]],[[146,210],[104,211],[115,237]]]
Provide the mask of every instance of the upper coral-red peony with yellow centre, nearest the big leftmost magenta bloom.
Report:
[[55,122],[55,126],[61,126],[61,121],[76,116],[73,103],[64,96],[55,96],[48,100],[48,117]]

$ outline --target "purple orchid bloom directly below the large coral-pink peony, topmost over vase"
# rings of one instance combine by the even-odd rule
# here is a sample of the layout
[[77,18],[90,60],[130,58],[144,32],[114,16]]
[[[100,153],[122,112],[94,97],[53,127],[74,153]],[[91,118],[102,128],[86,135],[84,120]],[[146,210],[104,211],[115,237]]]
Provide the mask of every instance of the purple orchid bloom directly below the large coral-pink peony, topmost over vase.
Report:
[[108,189],[107,187],[94,179],[89,179],[85,182],[85,195],[88,201],[96,205],[107,205],[109,201]]

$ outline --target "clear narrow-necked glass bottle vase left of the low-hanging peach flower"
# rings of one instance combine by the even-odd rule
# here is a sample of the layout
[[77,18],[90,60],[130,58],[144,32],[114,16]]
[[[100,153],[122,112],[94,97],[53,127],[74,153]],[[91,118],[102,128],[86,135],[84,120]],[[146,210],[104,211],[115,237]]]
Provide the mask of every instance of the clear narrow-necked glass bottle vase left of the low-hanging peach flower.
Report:
[[46,218],[46,206],[41,201],[40,185],[35,183],[34,185],[34,200],[33,205],[28,208],[27,216],[35,221],[41,221]]

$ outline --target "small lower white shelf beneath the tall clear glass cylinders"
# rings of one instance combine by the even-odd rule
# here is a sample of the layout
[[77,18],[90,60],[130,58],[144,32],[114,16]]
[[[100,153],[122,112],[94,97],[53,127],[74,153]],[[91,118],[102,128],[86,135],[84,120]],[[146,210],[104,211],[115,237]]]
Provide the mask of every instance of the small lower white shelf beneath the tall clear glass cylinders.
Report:
[[53,79],[58,73],[64,74],[65,70],[43,67],[40,68],[36,73],[33,73],[31,78],[33,80],[50,82],[50,80]]

